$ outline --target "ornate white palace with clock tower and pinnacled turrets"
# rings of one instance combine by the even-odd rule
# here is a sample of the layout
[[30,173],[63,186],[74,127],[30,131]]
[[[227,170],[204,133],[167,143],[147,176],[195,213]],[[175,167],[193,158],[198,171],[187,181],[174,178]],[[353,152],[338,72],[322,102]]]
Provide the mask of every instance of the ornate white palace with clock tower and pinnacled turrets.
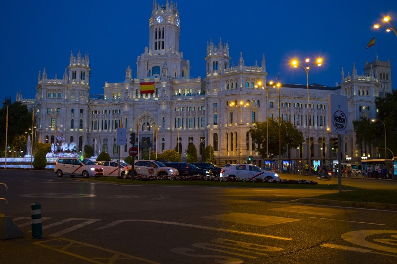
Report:
[[[132,68],[126,66],[125,79],[106,82],[101,96],[89,94],[88,53],[71,53],[62,78],[47,78],[46,68],[39,72],[34,100],[22,99],[20,93],[17,96],[17,101],[36,111],[37,141],[54,143],[62,130],[66,142],[76,142],[76,151],[82,152],[84,145],[97,143],[98,152],[107,151],[117,158],[116,129],[123,126],[127,134],[137,135],[139,159],[150,150],[161,153],[177,144],[185,158],[188,144],[193,143],[199,157],[205,146],[213,146],[213,162],[219,166],[243,162],[249,156],[253,156],[254,164],[264,166],[248,131],[253,123],[265,121],[266,113],[270,118],[278,117],[277,89],[269,88],[267,97],[266,89],[257,87],[259,81],[267,83],[265,55],[261,56],[260,65],[247,66],[241,53],[235,66],[230,61],[229,43],[215,44],[211,40],[206,47],[206,76],[192,78],[190,62],[184,59],[179,45],[181,23],[176,4],[167,0],[160,6],[154,0],[149,17],[149,47],[137,57],[135,77]],[[141,93],[140,82],[149,81],[155,83],[154,92]],[[341,83],[335,87],[311,84],[311,159],[326,164],[335,159],[337,136],[327,131],[329,94],[347,96],[348,119],[353,121],[360,116],[376,118],[375,97],[391,90],[390,62],[378,59],[366,63],[362,75],[353,66],[346,76],[342,68]],[[282,84],[280,96],[282,118],[295,124],[306,138],[306,85]],[[231,106],[231,102],[237,102],[237,107]],[[351,122],[348,130],[340,142],[343,157],[351,157],[354,163],[363,155],[374,156],[375,148],[361,152],[354,144]],[[297,149],[289,149],[282,159],[293,166],[305,163],[306,146],[304,142]],[[121,148],[122,157],[128,155],[129,147],[126,144]]]

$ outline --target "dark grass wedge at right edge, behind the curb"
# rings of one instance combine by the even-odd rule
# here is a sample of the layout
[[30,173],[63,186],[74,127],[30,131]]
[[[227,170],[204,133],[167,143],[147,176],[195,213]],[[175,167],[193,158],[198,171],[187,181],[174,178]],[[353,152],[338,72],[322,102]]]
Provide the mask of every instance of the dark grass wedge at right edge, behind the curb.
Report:
[[364,201],[397,203],[397,190],[369,190],[359,189],[336,194],[321,195],[313,198],[345,200],[345,201]]

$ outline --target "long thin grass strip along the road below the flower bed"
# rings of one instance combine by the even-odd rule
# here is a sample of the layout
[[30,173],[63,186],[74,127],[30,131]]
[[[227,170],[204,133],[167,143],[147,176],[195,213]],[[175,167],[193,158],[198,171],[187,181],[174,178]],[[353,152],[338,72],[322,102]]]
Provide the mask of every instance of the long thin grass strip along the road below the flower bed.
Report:
[[[283,183],[255,183],[255,182],[212,182],[212,181],[138,181],[127,179],[117,179],[116,177],[98,177],[81,179],[82,181],[108,182],[117,184],[133,185],[172,185],[172,186],[209,186],[209,187],[240,187],[240,188],[275,188],[275,189],[325,189],[338,190],[337,184],[283,184]],[[357,188],[342,186],[343,190],[354,190]]]

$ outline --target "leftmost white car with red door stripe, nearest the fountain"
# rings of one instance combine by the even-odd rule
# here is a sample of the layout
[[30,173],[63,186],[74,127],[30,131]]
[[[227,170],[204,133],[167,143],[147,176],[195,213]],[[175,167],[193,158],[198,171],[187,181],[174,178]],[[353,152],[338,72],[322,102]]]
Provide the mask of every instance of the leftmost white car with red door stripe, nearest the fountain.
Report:
[[58,177],[62,177],[64,174],[68,174],[70,177],[82,175],[83,178],[103,176],[103,168],[91,160],[71,157],[58,158],[55,161],[54,172]]

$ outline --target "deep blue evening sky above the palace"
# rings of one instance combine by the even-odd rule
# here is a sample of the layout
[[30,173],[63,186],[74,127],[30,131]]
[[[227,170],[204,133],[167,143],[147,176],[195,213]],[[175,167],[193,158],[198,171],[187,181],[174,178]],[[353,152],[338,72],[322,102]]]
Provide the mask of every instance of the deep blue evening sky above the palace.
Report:
[[[166,0],[157,0],[165,4]],[[174,1],[175,2],[175,1]],[[70,51],[90,56],[90,94],[102,94],[105,81],[124,81],[131,65],[148,46],[148,19],[153,0],[12,0],[0,3],[0,99],[17,91],[34,98],[38,72],[62,78]],[[293,57],[323,56],[325,63],[310,71],[310,83],[334,86],[341,68],[351,73],[355,63],[363,74],[365,62],[390,59],[397,78],[397,36],[374,30],[390,15],[397,25],[396,0],[179,0],[180,51],[190,60],[191,77],[205,76],[206,45],[229,42],[231,62],[260,65],[266,57],[268,80],[280,73],[282,83],[306,83],[305,72],[291,69]],[[366,49],[376,37],[376,45]],[[393,87],[396,88],[396,81]],[[2,104],[1,104],[2,107]]]

